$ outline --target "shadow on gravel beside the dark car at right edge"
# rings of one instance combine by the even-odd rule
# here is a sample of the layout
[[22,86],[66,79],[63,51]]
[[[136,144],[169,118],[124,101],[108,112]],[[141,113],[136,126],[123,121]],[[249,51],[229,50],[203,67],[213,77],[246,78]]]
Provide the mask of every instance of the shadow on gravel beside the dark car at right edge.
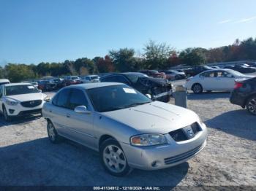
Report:
[[256,140],[256,116],[246,109],[233,110],[219,114],[206,121],[208,128],[215,128],[239,136],[244,139]]

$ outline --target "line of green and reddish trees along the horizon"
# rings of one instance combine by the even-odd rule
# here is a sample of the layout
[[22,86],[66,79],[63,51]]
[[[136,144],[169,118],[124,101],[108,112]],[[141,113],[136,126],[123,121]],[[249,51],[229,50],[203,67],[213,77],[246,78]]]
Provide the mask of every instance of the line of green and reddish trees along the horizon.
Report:
[[165,43],[149,41],[143,47],[142,54],[136,54],[132,48],[110,50],[102,57],[78,58],[75,61],[60,63],[42,62],[35,64],[7,63],[0,66],[0,78],[11,82],[24,79],[37,79],[44,76],[61,77],[65,75],[86,75],[105,72],[138,71],[140,69],[169,69],[171,66],[184,64],[188,66],[225,61],[255,61],[256,38],[236,41],[233,44],[204,49],[189,47],[178,51]]

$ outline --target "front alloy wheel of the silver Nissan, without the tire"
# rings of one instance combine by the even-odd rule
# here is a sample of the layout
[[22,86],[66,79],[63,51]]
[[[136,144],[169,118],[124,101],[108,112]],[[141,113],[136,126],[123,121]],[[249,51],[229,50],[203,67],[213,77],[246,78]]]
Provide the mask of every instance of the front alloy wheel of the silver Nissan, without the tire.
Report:
[[121,173],[127,167],[127,159],[122,149],[110,144],[103,151],[103,160],[106,167],[113,173]]

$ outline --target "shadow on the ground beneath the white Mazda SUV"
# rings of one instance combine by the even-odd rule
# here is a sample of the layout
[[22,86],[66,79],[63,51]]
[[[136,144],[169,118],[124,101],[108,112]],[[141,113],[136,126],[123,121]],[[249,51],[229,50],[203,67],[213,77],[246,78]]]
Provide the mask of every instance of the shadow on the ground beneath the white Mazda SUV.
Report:
[[29,123],[31,121],[37,120],[41,117],[42,117],[41,114],[34,114],[34,115],[26,116],[26,117],[15,117],[15,118],[12,119],[11,122],[6,122],[4,120],[3,115],[0,115],[0,127],[1,126],[8,126],[8,125],[16,125],[16,124],[24,125],[24,124]]

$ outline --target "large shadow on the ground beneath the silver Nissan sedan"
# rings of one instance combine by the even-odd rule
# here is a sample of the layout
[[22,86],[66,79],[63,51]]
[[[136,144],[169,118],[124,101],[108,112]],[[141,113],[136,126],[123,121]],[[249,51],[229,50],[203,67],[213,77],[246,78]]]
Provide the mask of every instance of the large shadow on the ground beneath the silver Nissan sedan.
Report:
[[88,185],[175,187],[187,175],[182,163],[159,171],[134,170],[124,177],[111,176],[99,155],[72,141],[51,144],[48,138],[0,147],[1,185]]

